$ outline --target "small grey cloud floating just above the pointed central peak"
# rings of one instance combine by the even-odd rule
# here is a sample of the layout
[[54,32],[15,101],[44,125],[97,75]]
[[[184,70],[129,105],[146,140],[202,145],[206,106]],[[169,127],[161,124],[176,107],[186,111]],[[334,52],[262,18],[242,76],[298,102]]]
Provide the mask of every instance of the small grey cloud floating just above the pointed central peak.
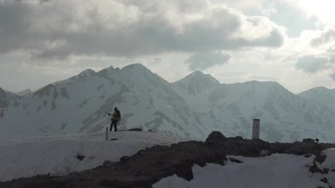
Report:
[[190,70],[205,70],[216,64],[227,63],[231,56],[221,52],[203,52],[192,55],[185,63],[190,64]]

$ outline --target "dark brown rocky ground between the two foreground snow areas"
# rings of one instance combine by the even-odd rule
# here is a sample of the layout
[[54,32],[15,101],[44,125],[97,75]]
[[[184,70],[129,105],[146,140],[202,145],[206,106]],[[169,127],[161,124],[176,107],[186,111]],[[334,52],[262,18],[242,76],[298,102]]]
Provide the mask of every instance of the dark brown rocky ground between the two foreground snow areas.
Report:
[[317,144],[312,139],[295,143],[268,143],[242,137],[226,138],[220,132],[212,132],[205,142],[189,141],[171,146],[153,146],[140,150],[133,156],[123,156],[120,162],[105,161],[102,166],[91,170],[62,177],[44,175],[0,182],[0,188],[150,188],[160,179],[173,174],[191,180],[191,167],[194,164],[224,165],[226,155],[259,157],[287,153],[311,157],[313,154],[316,158],[314,165],[309,167],[310,171],[328,173],[335,169],[319,169],[315,162],[322,163],[326,159],[322,150],[331,147],[335,147],[335,144]]

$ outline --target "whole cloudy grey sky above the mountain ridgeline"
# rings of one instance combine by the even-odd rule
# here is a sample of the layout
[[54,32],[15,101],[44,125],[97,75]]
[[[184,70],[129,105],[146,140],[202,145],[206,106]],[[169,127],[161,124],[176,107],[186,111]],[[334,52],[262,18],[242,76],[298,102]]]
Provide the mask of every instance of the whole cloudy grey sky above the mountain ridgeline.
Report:
[[0,0],[0,87],[143,63],[168,82],[335,88],[332,0]]

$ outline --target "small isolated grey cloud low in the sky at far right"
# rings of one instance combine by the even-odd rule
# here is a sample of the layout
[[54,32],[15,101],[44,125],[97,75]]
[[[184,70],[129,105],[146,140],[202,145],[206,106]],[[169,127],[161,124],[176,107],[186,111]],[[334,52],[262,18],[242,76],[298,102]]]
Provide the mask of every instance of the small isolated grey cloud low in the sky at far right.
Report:
[[295,67],[307,73],[315,73],[319,70],[325,69],[328,62],[326,57],[316,57],[313,55],[306,55],[298,58]]

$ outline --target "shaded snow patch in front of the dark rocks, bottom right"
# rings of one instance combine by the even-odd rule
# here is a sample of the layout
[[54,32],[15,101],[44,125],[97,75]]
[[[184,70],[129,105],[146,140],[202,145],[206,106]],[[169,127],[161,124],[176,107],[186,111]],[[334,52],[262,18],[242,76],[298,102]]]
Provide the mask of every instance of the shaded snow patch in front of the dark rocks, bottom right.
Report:
[[[325,167],[334,167],[335,150],[327,152]],[[153,188],[317,188],[328,187],[320,180],[324,177],[335,185],[335,172],[329,174],[311,173],[314,156],[306,158],[292,154],[273,154],[267,157],[246,158],[227,156],[243,163],[227,161],[225,166],[207,164],[206,167],[192,167],[191,181],[176,175],[164,178]]]

